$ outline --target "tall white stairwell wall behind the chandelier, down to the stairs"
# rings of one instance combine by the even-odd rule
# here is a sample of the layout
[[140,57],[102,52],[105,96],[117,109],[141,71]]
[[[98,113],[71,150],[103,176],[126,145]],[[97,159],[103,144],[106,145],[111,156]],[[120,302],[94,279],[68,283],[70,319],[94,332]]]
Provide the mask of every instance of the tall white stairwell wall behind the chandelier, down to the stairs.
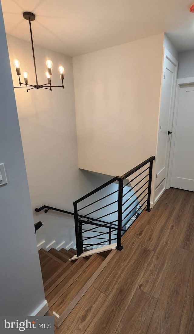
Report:
[[[33,28],[33,26],[32,26]],[[35,83],[31,44],[7,35],[14,86],[18,77],[13,65],[15,58],[21,62],[21,72],[27,71],[28,82]],[[58,67],[63,65],[64,89],[53,91],[15,89],[16,104],[29,182],[34,222],[42,221],[37,231],[37,243],[53,240],[57,247],[72,241],[75,246],[74,218],[56,211],[36,213],[34,209],[44,204],[73,211],[73,201],[106,182],[110,176],[84,173],[78,169],[77,135],[72,58],[35,45],[38,81],[46,83],[46,60],[53,62],[52,84],[61,85]]]

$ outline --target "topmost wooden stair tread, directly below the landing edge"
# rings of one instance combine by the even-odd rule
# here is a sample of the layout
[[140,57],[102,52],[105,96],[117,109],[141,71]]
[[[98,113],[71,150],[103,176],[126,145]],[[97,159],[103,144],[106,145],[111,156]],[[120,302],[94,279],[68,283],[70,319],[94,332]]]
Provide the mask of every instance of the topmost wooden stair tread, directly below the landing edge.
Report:
[[[96,254],[95,254],[96,255]],[[93,259],[92,259],[93,257]],[[63,295],[55,302],[51,307],[51,311],[56,312],[57,314],[62,314],[64,309],[71,303],[71,301],[76,297],[79,291],[95,273],[98,267],[103,263],[104,258],[100,255],[94,255],[91,257],[89,265],[72,284],[71,286],[63,293]]]

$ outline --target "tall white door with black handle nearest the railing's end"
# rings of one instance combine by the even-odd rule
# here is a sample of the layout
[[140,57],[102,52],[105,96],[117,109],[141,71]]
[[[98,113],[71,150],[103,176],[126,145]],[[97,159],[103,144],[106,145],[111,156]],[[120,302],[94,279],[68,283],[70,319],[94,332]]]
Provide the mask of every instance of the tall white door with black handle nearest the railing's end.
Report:
[[166,188],[170,154],[172,118],[175,100],[177,65],[176,59],[165,51],[161,93],[158,146],[156,154],[155,201]]

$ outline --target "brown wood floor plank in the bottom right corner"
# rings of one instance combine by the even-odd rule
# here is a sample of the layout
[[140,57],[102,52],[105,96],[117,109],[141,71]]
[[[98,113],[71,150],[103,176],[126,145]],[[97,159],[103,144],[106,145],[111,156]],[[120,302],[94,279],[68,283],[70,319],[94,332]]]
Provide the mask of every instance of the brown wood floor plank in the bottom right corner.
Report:
[[194,299],[186,296],[178,334],[194,333]]

